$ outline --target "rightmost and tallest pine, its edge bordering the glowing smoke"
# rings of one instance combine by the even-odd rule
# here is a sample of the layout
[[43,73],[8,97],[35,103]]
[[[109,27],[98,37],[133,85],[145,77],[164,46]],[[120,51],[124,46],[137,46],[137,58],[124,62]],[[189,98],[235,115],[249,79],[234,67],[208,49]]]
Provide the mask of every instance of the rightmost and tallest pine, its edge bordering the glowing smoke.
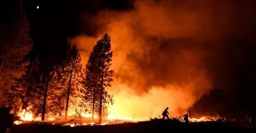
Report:
[[107,34],[97,41],[93,48],[93,55],[95,57],[93,64],[94,70],[96,70],[97,79],[99,81],[99,123],[102,122],[102,108],[105,108],[108,104],[113,104],[112,95],[109,95],[106,91],[108,87],[111,87],[110,82],[113,81],[114,71],[110,70],[113,51],[111,50],[110,36]]

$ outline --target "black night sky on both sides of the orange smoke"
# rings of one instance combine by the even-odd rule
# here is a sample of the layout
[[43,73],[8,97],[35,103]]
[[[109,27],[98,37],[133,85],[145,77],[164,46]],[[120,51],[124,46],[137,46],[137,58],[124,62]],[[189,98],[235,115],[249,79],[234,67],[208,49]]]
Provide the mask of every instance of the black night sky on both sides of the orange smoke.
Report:
[[[209,60],[208,62],[211,66],[209,69],[215,73],[215,90],[212,91],[211,96],[212,106],[215,106],[217,111],[225,109],[226,113],[233,111],[253,114],[256,111],[254,103],[256,101],[256,23],[254,23],[256,19],[251,16],[255,11],[255,2],[253,0],[229,1],[232,1],[237,8],[237,17],[232,18],[234,23],[231,25],[237,28],[228,31],[228,37],[225,37],[228,50],[221,55],[221,59],[218,57],[217,61]],[[46,60],[51,58],[53,62],[61,62],[65,57],[69,49],[67,38],[78,34],[96,35],[95,31],[100,27],[92,24],[90,18],[96,16],[98,11],[133,10],[134,8],[132,0],[62,0],[58,2],[23,0],[22,2],[30,23],[30,37],[34,43],[31,57],[37,55]],[[18,3],[18,0],[15,4],[10,3],[14,8],[6,9],[8,13],[17,11],[10,9],[17,9],[15,5]],[[37,6],[39,9],[36,9]],[[247,10],[246,14],[243,10]],[[86,16],[83,19],[88,21],[81,20],[82,14]],[[8,15],[5,17],[11,18]],[[84,26],[86,24],[81,22],[86,22],[88,26]],[[250,25],[247,25],[249,22]],[[243,28],[245,25],[250,28]]]

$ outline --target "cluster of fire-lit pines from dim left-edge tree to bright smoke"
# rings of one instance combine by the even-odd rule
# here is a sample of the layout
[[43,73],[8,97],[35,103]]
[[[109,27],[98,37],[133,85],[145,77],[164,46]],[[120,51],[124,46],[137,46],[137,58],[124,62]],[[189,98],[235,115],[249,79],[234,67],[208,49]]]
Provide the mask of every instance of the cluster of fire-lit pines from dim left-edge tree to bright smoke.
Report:
[[110,70],[112,56],[110,36],[105,34],[92,49],[85,68],[76,45],[61,64],[55,64],[54,57],[48,58],[49,63],[46,58],[36,57],[26,65],[25,73],[11,83],[12,92],[5,95],[13,100],[11,105],[19,109],[17,112],[33,112],[41,121],[66,121],[69,115],[81,118],[86,113],[92,113],[94,119],[96,112],[102,122],[107,107],[113,104],[113,95],[107,93],[114,75]]

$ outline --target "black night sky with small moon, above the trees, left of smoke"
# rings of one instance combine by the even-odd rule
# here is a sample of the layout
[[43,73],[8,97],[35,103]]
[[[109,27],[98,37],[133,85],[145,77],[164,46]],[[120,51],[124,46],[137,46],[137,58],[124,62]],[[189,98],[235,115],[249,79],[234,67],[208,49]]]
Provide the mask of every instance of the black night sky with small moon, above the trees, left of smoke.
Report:
[[[79,33],[94,35],[97,27],[84,27],[80,15],[94,16],[97,11],[111,8],[124,10],[132,7],[126,0],[22,0],[24,11],[30,23],[30,36],[34,43],[35,53],[42,52],[47,58],[62,60],[65,57],[66,39]],[[111,4],[114,3],[114,4]],[[39,6],[39,9],[36,7]],[[49,49],[50,47],[50,49]],[[40,54],[39,54],[40,55]],[[56,61],[56,60],[55,60]],[[54,62],[55,62],[54,61]]]

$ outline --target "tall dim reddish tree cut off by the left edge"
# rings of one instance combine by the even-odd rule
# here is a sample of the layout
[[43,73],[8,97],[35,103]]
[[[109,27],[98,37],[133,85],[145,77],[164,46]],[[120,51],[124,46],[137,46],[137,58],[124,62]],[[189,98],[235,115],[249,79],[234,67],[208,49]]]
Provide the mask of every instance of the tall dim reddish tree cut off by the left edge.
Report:
[[[1,7],[2,19],[0,20],[0,98],[1,106],[6,103],[15,105],[18,101],[14,91],[15,79],[19,79],[25,72],[28,60],[25,56],[32,49],[33,43],[28,35],[29,24],[22,11],[21,5],[8,1]],[[14,4],[14,5],[13,5]],[[6,95],[8,94],[8,95]],[[3,101],[6,100],[5,102]],[[2,102],[3,101],[3,102]]]

